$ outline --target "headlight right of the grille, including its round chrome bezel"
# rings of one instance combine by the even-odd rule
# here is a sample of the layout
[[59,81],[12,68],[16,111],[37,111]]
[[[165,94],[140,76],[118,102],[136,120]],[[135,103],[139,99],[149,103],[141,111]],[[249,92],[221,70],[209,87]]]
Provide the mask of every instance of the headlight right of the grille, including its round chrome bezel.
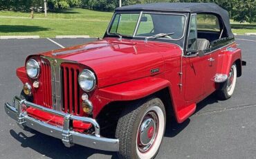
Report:
[[[90,77],[90,81],[88,81],[88,79],[85,79],[84,77],[82,77],[82,75],[87,75],[87,77]],[[84,78],[84,79],[82,79]],[[82,84],[82,82],[84,82],[85,80],[87,80],[87,82],[92,82],[92,84],[89,84],[89,87],[85,87],[85,84]],[[94,75],[94,73],[88,69],[84,69],[79,75],[78,75],[78,84],[80,85],[80,88],[82,88],[83,91],[86,92],[90,92],[93,91],[93,89],[96,86],[96,77]]]

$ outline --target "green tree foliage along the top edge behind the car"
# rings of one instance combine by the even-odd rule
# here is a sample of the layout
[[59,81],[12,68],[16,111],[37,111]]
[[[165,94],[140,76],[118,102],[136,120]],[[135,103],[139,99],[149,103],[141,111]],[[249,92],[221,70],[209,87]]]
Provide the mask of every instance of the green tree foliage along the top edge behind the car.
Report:
[[[228,10],[235,21],[256,22],[256,0],[122,0],[122,6],[156,2],[213,2]],[[119,6],[119,0],[47,0],[47,3],[50,10],[81,6],[91,10],[113,11]],[[0,10],[28,11],[31,7],[39,6],[44,6],[44,0],[0,0]]]

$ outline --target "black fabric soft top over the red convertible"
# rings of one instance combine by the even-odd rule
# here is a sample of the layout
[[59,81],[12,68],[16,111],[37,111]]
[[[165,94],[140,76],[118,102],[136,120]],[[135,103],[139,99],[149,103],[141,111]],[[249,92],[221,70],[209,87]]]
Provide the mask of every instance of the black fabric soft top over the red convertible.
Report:
[[224,10],[215,3],[147,3],[136,4],[131,6],[124,6],[116,8],[116,11],[161,11],[161,12],[190,12],[190,13],[212,13],[219,15],[223,20],[223,24],[226,27],[228,37],[233,37],[230,28],[230,19],[228,11]]

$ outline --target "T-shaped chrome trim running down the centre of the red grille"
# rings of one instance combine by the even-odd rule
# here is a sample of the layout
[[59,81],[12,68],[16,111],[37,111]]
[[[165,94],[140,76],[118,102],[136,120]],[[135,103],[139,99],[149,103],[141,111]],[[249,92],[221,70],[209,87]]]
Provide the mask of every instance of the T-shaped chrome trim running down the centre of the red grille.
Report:
[[53,109],[62,111],[63,94],[62,94],[62,70],[61,64],[63,62],[77,63],[68,61],[66,59],[55,59],[53,57],[41,56],[43,59],[48,60],[51,65],[51,88],[52,88],[52,101]]

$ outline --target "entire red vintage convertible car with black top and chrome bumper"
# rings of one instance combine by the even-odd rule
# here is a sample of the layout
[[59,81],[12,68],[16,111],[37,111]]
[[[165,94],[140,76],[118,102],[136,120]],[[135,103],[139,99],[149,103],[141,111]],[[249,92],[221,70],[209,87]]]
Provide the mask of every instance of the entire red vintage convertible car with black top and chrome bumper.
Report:
[[245,64],[214,3],[125,6],[103,39],[27,57],[24,88],[5,110],[66,147],[154,158],[167,117],[183,122],[214,92],[230,98]]

